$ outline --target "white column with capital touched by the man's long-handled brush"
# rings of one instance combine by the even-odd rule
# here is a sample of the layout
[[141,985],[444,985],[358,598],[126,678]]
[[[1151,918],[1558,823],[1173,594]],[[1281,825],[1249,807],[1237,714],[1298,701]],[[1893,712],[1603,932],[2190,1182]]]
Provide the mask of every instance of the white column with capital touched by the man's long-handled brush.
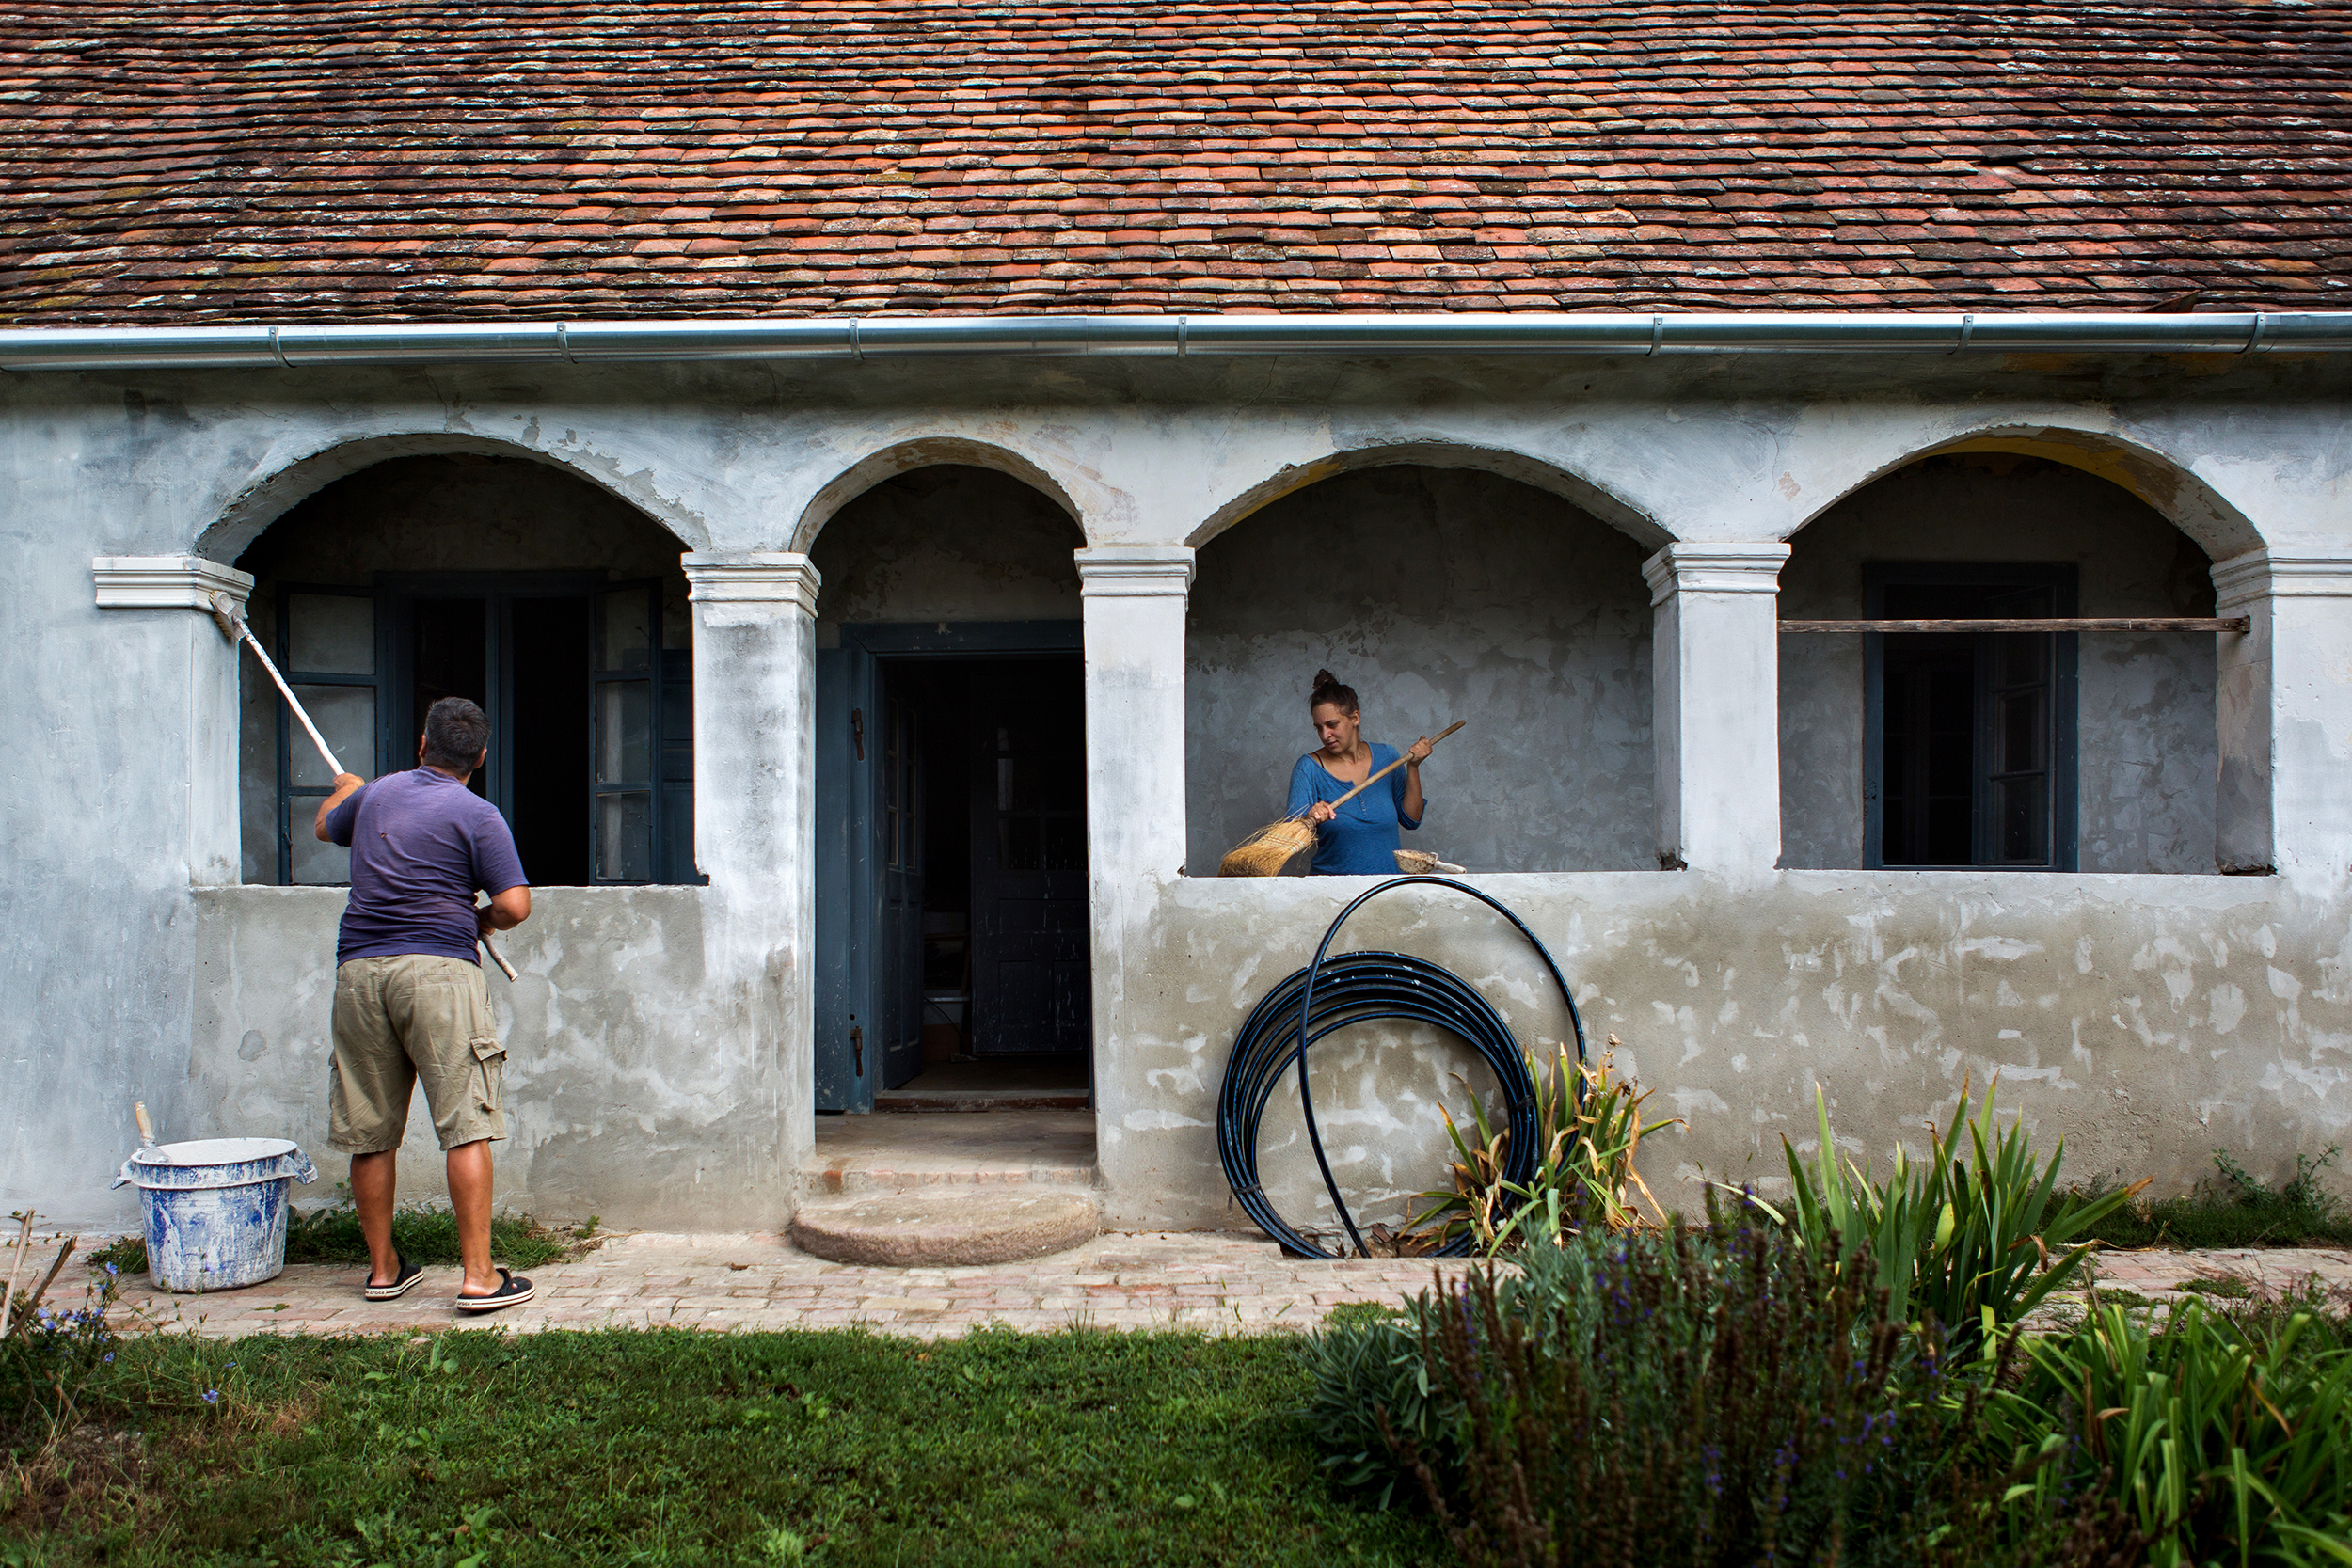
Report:
[[[99,555],[89,562],[99,609],[141,611],[153,623],[143,639],[120,637],[129,656],[153,644],[153,696],[186,682],[188,766],[188,882],[230,886],[242,879],[238,844],[238,668],[252,658],[221,635],[212,595],[245,614],[254,578],[200,555]],[[254,679],[268,679],[254,668]],[[167,736],[155,736],[158,743]]]

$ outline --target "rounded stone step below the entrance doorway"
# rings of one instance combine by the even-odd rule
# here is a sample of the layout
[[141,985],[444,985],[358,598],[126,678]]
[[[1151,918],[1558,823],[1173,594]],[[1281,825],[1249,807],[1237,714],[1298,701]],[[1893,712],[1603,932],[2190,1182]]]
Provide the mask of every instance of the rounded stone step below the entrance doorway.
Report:
[[1044,1258],[1091,1241],[1103,1211],[1068,1187],[962,1187],[877,1192],[847,1204],[802,1204],[793,1246],[833,1262],[955,1267]]

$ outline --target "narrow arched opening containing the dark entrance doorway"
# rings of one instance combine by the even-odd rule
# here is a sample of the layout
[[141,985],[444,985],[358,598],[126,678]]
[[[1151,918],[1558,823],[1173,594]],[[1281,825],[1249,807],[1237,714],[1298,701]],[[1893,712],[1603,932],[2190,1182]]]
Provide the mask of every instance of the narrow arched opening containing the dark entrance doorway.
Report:
[[1082,545],[967,463],[873,482],[809,543],[818,1110],[1089,1103]]

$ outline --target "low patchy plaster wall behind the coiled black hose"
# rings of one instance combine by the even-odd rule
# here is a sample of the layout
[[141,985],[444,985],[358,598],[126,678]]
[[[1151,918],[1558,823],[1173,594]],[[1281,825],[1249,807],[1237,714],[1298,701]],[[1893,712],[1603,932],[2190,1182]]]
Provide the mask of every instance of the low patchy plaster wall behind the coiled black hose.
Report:
[[[1783,872],[1762,889],[1682,875],[1479,877],[1545,940],[1595,1051],[1684,1117],[1644,1143],[1658,1199],[1696,1211],[1700,1175],[1785,1182],[1780,1135],[1811,1143],[1813,1084],[1842,1145],[1926,1147],[1962,1081],[1999,1074],[2004,1114],[2067,1138],[2070,1180],[2187,1187],[2216,1147],[2291,1173],[2352,1126],[2352,929],[2343,907],[2263,879]],[[1103,1100],[1108,1222],[1232,1222],[1216,1086],[1235,1030],[1305,964],[1364,882],[1169,886],[1120,1020]],[[1564,1011],[1526,943],[1482,905],[1406,889],[1367,905],[1341,950],[1390,947],[1468,978],[1522,1041]],[[1364,1220],[1437,1185],[1444,1128],[1484,1070],[1458,1044],[1364,1025],[1317,1046],[1315,1114]],[[1303,1227],[1336,1227],[1296,1091],[1268,1117],[1261,1175]]]

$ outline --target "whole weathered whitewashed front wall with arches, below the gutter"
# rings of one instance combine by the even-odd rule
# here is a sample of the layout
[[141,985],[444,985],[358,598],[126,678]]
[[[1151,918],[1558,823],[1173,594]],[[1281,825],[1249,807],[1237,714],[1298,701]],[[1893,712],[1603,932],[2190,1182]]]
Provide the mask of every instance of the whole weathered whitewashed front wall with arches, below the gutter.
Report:
[[[1432,461],[1541,484],[1642,548],[1677,543],[1653,574],[1679,628],[1672,670],[1651,649],[1672,785],[1653,790],[1661,823],[1672,816],[1661,839],[1689,870],[1491,882],[1592,992],[1595,1025],[1625,1037],[1661,1105],[1689,1117],[1675,1166],[1769,1166],[1771,1135],[1806,1126],[1816,1077],[1842,1135],[1886,1147],[1999,1067],[2004,1103],[2070,1135],[2082,1168],[2185,1180],[2220,1143],[2284,1168],[2352,1121],[2352,425],[2336,360],[2201,371],[1661,355],[7,378],[0,616],[16,637],[0,649],[0,722],[35,743],[0,797],[0,1185],[64,1222],[120,1222],[129,1206],[106,1180],[132,1147],[132,1098],[167,1135],[315,1135],[332,893],[221,886],[238,865],[235,656],[193,611],[96,609],[89,562],[230,562],[327,480],[419,451],[569,468],[715,574],[694,607],[710,886],[550,898],[510,943],[527,985],[501,1006],[529,1105],[501,1178],[541,1213],[668,1227],[788,1213],[811,1124],[816,602],[797,557],[776,552],[821,538],[873,477],[941,454],[1028,475],[1089,545],[1096,1081],[1115,1225],[1223,1215],[1202,1161],[1230,1030],[1350,891],[1176,875],[1192,846],[1185,550],[1317,480]],[[2277,875],[1771,870],[1780,724],[1755,672],[1773,668],[1776,550],[1962,440],[2089,463],[2220,562],[2239,595],[2223,611],[2246,604],[2256,630],[2216,646],[2216,813],[2232,853]],[[1498,994],[1522,983],[1451,919],[1374,922],[1371,936]],[[1390,1086],[1435,1081],[1406,1056],[1357,1093],[1397,1107],[1409,1100]],[[1404,1157],[1367,1145],[1364,1159],[1378,1168],[1350,1164],[1362,1190],[1406,1182]]]

